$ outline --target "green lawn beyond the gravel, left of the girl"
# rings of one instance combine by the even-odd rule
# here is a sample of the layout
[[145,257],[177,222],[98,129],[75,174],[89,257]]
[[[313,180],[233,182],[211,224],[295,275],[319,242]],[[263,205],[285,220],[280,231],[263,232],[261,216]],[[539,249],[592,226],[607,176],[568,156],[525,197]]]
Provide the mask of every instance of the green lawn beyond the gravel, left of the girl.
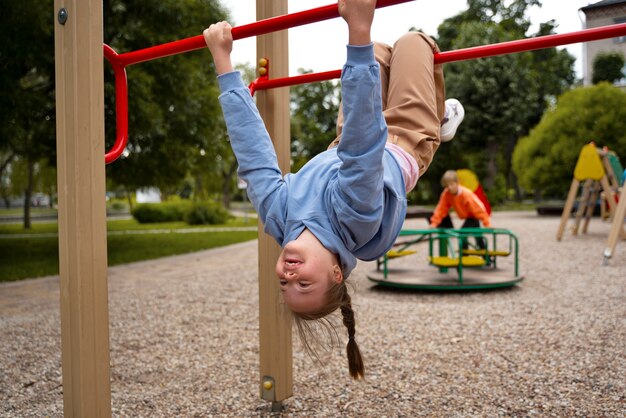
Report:
[[[108,221],[109,231],[132,231],[150,229],[188,229],[184,222],[163,224],[139,224],[135,220]],[[218,226],[256,226],[256,220],[244,222],[237,219]],[[206,226],[204,226],[206,227]],[[0,225],[0,235],[56,233],[56,222],[36,223],[31,230],[21,225]],[[108,264],[151,260],[169,255],[185,254],[210,248],[235,244],[257,238],[257,231],[194,232],[188,234],[164,233],[137,235],[109,235],[107,238]],[[0,282],[48,276],[59,273],[58,238],[27,237],[0,238]]]

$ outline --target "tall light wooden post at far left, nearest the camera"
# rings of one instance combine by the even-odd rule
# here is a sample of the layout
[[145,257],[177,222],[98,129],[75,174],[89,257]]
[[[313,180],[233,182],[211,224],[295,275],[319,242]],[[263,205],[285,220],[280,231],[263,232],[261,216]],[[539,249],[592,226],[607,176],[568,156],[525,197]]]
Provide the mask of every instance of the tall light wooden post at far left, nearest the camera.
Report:
[[102,0],[55,0],[61,360],[66,417],[111,416]]

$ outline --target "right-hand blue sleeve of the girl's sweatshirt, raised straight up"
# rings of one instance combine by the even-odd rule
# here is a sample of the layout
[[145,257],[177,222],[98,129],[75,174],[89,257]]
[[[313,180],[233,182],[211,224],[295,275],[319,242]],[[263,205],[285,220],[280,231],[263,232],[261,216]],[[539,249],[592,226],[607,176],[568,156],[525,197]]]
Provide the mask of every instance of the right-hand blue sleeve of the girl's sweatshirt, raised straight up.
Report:
[[[344,123],[337,147],[341,159],[335,198],[342,217],[356,222],[341,222],[373,230],[379,225],[384,209],[383,154],[387,125],[383,116],[380,68],[373,44],[348,45],[348,56],[341,75]],[[365,232],[365,231],[364,231]]]

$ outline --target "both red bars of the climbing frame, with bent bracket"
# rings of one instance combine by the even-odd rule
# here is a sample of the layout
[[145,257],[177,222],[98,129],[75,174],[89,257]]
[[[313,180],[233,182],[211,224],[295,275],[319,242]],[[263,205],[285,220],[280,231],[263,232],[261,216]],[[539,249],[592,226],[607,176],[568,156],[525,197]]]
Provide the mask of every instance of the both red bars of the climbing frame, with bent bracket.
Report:
[[[409,1],[412,0],[378,0],[376,7],[381,8],[400,3],[407,3]],[[232,30],[233,39],[237,40],[251,36],[263,35],[269,32],[336,18],[338,16],[339,11],[337,9],[337,4],[331,4],[328,6],[277,16],[247,25],[234,27]],[[578,42],[590,42],[598,39],[613,38],[618,36],[626,36],[626,23],[585,29],[565,34],[539,36],[536,38],[520,39],[517,41],[441,52],[435,55],[435,62],[443,64],[453,61],[485,58],[494,55],[551,48]],[[116,53],[106,44],[103,46],[104,56],[113,66],[115,74],[115,113],[117,127],[115,144],[113,145],[113,148],[105,154],[106,164],[112,163],[119,158],[128,142],[128,83],[126,79],[126,66],[169,55],[202,49],[205,48],[205,46],[204,37],[202,35],[123,54]],[[251,94],[254,94],[256,90],[267,90],[276,87],[312,83],[339,77],[341,77],[341,70],[302,74],[293,77],[276,79],[269,79],[267,76],[264,76],[250,84],[250,92]]]

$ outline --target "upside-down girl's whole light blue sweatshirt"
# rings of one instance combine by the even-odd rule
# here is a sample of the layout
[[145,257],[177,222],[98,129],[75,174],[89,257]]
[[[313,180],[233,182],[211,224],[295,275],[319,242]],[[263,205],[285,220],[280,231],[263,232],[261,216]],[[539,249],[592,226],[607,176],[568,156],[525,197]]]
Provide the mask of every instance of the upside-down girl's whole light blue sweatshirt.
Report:
[[238,72],[218,76],[238,174],[265,232],[285,246],[308,228],[339,256],[344,277],[356,260],[393,245],[406,215],[404,179],[385,149],[379,66],[373,45],[347,47],[341,75],[344,125],[339,145],[284,177],[272,141]]

